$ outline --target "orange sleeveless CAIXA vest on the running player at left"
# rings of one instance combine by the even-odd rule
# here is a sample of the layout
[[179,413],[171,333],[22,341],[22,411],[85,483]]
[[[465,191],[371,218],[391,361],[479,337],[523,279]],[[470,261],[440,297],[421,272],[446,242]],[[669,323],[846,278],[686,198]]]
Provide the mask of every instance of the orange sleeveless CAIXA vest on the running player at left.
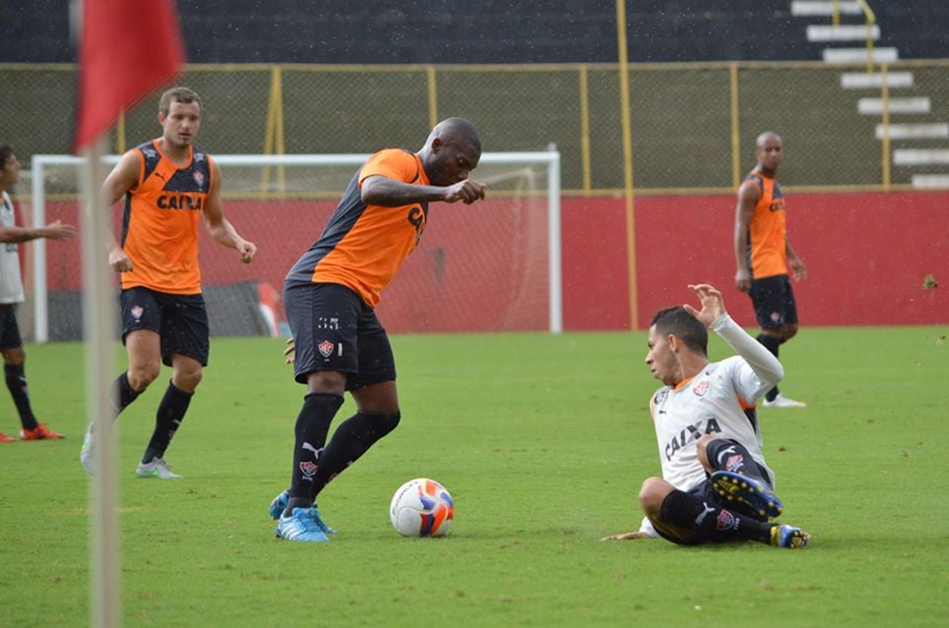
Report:
[[125,194],[121,228],[132,270],[121,274],[121,286],[199,294],[197,224],[211,189],[211,156],[192,148],[188,164],[178,168],[157,139],[132,152],[139,156],[139,181]]

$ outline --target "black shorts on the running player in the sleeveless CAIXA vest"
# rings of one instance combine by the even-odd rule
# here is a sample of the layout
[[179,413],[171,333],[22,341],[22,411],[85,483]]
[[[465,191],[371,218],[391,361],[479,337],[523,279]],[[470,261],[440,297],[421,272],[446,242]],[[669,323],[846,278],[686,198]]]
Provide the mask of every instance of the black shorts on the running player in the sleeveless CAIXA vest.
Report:
[[200,294],[168,294],[136,286],[121,291],[121,342],[130,332],[152,329],[161,337],[161,361],[172,365],[172,355],[194,358],[208,365],[208,311]]

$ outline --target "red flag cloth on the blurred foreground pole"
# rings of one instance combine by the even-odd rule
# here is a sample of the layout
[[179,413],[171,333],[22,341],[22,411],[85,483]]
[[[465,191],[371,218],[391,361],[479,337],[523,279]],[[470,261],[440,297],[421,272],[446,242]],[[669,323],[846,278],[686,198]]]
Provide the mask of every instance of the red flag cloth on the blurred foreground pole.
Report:
[[83,0],[76,152],[184,63],[175,0]]

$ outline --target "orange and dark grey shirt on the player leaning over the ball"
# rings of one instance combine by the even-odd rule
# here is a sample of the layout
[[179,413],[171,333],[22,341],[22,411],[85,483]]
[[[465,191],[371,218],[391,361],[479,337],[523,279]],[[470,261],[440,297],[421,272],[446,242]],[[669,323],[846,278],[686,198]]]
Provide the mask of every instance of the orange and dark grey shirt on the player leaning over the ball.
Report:
[[363,203],[360,188],[373,175],[413,185],[428,185],[418,155],[398,148],[382,150],[353,176],[319,239],[287,275],[287,285],[342,284],[375,307],[402,262],[419,243],[428,203],[383,207]]

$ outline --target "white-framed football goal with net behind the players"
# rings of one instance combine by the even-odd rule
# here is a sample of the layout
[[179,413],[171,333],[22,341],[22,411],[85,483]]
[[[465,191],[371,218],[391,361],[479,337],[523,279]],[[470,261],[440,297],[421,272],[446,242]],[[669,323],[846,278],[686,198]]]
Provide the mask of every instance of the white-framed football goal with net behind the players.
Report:
[[[251,265],[240,264],[232,249],[199,228],[211,333],[286,335],[284,277],[319,237],[368,156],[213,157],[223,175],[225,215],[258,253]],[[105,157],[108,168],[117,160]],[[80,164],[78,157],[33,156],[30,180],[15,198],[20,224],[62,220],[83,228]],[[390,333],[561,331],[559,154],[486,153],[473,178],[488,184],[484,201],[429,205],[419,247],[382,293],[382,323]],[[113,210],[113,220],[119,233],[120,211]],[[34,240],[23,247],[25,340],[82,338],[80,241]]]

